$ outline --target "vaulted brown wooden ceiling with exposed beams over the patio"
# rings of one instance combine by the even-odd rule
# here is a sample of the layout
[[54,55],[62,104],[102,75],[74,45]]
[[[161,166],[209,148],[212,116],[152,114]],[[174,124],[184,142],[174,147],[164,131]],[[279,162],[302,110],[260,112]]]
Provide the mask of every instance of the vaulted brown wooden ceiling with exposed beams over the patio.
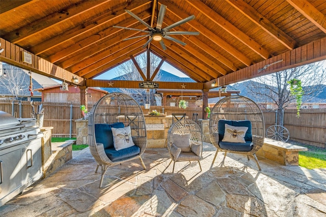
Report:
[[[163,28],[195,15],[194,20],[171,31],[197,31],[200,35],[173,36],[185,46],[164,39],[167,49],[163,50],[156,41],[143,48],[148,37],[123,40],[144,35],[142,32],[113,28],[147,30],[125,10],[155,27],[161,4],[167,6]],[[1,0],[0,12],[1,47],[6,50],[0,60],[20,62],[58,78],[67,76],[13,60],[15,45],[35,55],[35,60],[41,58],[71,72],[79,81],[87,79],[84,84],[90,87],[108,87],[107,81],[92,78],[145,51],[203,84],[191,89],[209,89],[216,78],[220,84],[231,84],[326,59],[323,0]],[[283,61],[259,70],[278,60]],[[141,73],[144,80],[151,79],[147,72]],[[162,84],[160,88],[178,87]]]

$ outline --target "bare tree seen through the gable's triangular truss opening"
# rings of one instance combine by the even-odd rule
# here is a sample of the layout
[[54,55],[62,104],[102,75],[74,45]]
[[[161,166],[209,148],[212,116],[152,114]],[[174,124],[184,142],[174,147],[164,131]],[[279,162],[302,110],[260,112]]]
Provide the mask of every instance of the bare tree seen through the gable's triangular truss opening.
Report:
[[[141,55],[138,55],[135,57],[136,62],[140,66],[140,68],[143,70],[145,76],[147,74],[147,52],[142,53]],[[159,62],[161,59],[150,52],[150,76],[153,75],[155,69],[157,68]],[[136,66],[133,64],[131,60],[121,64],[117,67],[117,75],[119,76],[117,79],[119,80],[143,80],[141,74],[137,70]],[[154,81],[159,80],[160,76],[157,73]],[[126,93],[130,96],[132,96],[138,103],[144,104],[148,100],[150,100],[151,105],[155,105],[155,89],[150,89],[149,95],[146,93],[146,89],[120,89],[122,93]]]

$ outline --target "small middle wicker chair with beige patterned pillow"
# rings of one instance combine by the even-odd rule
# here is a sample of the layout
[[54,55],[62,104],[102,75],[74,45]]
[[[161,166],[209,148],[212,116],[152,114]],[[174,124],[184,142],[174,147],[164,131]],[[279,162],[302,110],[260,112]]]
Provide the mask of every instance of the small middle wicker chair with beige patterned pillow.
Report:
[[[168,130],[168,150],[173,161],[173,170],[176,161],[198,161],[200,171],[200,159],[203,149],[202,132],[198,124],[190,119],[181,119],[174,123]],[[170,162],[170,164],[171,164]]]

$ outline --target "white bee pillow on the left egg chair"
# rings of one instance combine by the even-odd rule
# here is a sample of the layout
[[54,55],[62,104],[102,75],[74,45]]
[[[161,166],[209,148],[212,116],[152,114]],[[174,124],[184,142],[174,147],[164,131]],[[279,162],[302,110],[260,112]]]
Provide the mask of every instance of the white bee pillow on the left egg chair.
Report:
[[113,145],[117,151],[134,146],[131,138],[130,126],[124,128],[113,128]]

